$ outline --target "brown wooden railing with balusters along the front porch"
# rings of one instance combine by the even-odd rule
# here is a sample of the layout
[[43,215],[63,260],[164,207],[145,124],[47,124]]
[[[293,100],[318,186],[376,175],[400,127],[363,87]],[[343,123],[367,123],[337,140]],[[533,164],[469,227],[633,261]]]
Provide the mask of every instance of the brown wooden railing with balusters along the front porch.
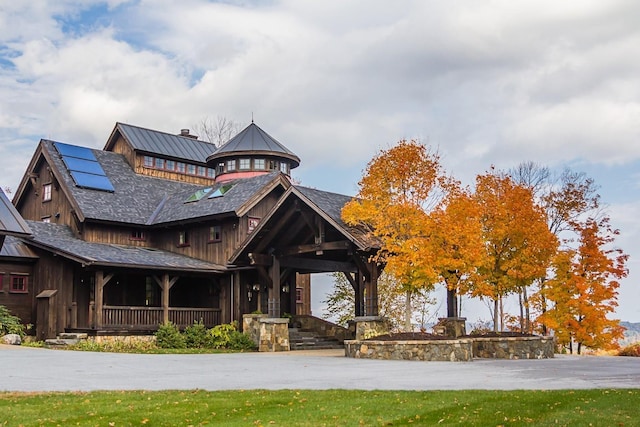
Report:
[[[207,327],[220,324],[220,309],[170,307],[169,321],[179,327],[200,321]],[[162,307],[131,307],[107,305],[102,309],[102,327],[157,329],[163,323]]]

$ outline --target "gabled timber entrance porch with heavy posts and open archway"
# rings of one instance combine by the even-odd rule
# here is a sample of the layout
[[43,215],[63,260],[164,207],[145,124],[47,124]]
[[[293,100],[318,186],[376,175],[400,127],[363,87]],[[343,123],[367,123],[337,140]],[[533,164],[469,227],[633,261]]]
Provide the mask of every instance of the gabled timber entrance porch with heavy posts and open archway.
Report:
[[[378,315],[378,242],[340,218],[351,198],[291,187],[230,262],[253,267],[269,317],[296,315],[296,274],[341,272],[353,287],[356,316]],[[250,283],[247,283],[251,286]],[[262,304],[264,306],[264,304]],[[287,311],[291,310],[291,311]]]

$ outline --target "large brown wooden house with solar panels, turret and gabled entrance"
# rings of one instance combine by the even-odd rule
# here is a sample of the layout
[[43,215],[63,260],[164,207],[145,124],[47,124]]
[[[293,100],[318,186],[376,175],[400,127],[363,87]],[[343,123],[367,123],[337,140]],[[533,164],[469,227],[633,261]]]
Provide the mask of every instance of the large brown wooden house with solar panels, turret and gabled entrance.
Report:
[[221,147],[124,123],[103,150],[43,139],[0,198],[0,305],[41,339],[211,327],[311,314],[310,273],[341,271],[377,314],[376,242],[340,219],[350,197],[292,184],[299,164],[254,123]]

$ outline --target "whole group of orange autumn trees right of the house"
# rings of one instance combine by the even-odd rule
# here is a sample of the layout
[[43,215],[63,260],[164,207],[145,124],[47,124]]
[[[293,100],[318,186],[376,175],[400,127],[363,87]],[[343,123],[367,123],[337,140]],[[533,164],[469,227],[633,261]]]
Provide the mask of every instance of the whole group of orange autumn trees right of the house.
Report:
[[[599,197],[584,174],[555,177],[532,163],[492,168],[463,188],[436,152],[402,140],[369,162],[342,217],[378,237],[378,261],[408,302],[442,284],[449,316],[460,315],[459,295],[482,298],[493,305],[494,330],[509,319],[523,332],[551,330],[580,352],[614,348],[622,336],[609,316],[627,255],[613,247],[618,231]],[[519,316],[503,312],[509,295],[519,298]]]

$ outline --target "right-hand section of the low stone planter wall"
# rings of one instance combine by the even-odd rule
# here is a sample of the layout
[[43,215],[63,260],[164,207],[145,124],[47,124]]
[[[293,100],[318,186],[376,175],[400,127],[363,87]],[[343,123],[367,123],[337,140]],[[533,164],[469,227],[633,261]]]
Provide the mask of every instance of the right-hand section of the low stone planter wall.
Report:
[[484,359],[551,359],[553,337],[473,337],[473,356]]

